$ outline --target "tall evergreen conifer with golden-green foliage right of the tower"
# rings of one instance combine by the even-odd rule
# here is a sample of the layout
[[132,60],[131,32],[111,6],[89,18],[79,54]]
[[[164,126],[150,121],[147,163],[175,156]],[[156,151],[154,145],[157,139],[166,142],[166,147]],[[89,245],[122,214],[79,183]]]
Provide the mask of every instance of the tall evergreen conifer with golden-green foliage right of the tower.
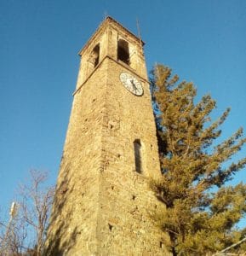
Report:
[[215,100],[206,95],[195,104],[194,85],[169,67],[156,65],[151,85],[162,170],[152,189],[166,206],[156,218],[173,255],[218,252],[240,239],[235,224],[246,211],[246,185],[226,183],[246,165],[246,157],[232,162],[246,143],[243,129],[218,143],[230,109],[211,121]]

